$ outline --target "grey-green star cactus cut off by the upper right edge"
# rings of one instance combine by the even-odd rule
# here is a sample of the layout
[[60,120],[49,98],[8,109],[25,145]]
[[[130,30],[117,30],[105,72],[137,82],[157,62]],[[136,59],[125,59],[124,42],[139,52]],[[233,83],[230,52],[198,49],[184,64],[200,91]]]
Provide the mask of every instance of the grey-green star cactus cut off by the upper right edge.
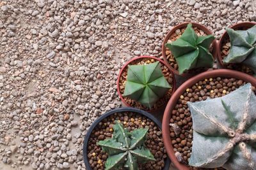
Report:
[[223,59],[224,64],[241,63],[256,73],[256,25],[246,31],[227,28],[230,51]]

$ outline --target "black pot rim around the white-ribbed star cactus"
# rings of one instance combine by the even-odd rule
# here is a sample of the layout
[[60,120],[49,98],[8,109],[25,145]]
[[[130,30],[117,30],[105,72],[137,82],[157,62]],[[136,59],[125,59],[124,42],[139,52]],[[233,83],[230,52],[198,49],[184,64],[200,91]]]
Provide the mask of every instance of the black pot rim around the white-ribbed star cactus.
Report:
[[[162,124],[159,120],[157,120],[156,117],[154,117],[153,115],[151,115],[150,113],[148,113],[147,111],[144,111],[144,110],[139,110],[137,108],[128,108],[128,107],[125,107],[125,108],[116,108],[114,110],[110,110],[108,111],[107,113],[104,113],[103,115],[101,115],[99,118],[97,118],[93,124],[90,126],[90,128],[88,129],[86,135],[84,136],[84,142],[83,142],[83,159],[84,159],[84,164],[85,164],[85,167],[86,169],[88,170],[92,170],[91,166],[90,166],[90,163],[89,163],[89,160],[88,160],[88,157],[87,157],[87,145],[88,145],[88,141],[90,139],[90,136],[92,134],[92,131],[93,129],[99,124],[99,122],[101,122],[104,118],[106,117],[109,117],[110,115],[113,115],[115,113],[118,113],[118,112],[126,112],[126,111],[132,111],[132,112],[135,112],[135,113],[139,113],[147,118],[150,118],[153,122],[155,122],[157,124],[157,126],[159,127],[159,129],[162,131]],[[163,132],[162,132],[163,133]],[[162,138],[163,138],[163,134],[162,134]],[[166,157],[166,159],[164,160],[164,167],[163,167],[163,170],[168,170],[169,169],[169,166],[170,166],[170,159],[169,157]]]

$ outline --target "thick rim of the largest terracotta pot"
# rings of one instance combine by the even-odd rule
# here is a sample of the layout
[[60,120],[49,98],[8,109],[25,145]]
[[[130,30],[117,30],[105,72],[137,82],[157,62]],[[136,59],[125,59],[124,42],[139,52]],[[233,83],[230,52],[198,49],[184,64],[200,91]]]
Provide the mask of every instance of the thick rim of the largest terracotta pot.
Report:
[[253,76],[250,76],[248,74],[239,72],[239,71],[233,71],[230,69],[216,69],[213,71],[206,71],[204,73],[200,73],[197,76],[194,76],[193,78],[190,78],[185,83],[183,83],[172,95],[170,101],[168,102],[165,110],[164,110],[164,116],[163,116],[163,122],[162,122],[162,129],[163,129],[163,140],[164,140],[164,146],[166,148],[166,152],[168,153],[168,156],[172,160],[173,164],[177,167],[177,169],[180,170],[187,170],[189,169],[188,166],[185,164],[182,164],[178,162],[178,160],[175,157],[175,153],[172,146],[172,139],[170,137],[170,118],[173,108],[177,104],[177,101],[179,100],[180,95],[182,95],[186,89],[189,87],[192,87],[200,80],[205,80],[205,78],[216,78],[216,77],[224,77],[224,78],[236,78],[240,79],[246,82],[252,83],[253,86],[256,87],[256,79],[253,78]]

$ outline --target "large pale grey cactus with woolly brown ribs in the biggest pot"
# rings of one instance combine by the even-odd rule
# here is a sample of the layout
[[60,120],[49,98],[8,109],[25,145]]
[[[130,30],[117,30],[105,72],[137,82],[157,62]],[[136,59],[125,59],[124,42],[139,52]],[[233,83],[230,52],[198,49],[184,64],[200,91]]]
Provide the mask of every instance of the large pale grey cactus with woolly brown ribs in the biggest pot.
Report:
[[256,169],[256,96],[247,83],[226,96],[188,103],[193,118],[190,166]]

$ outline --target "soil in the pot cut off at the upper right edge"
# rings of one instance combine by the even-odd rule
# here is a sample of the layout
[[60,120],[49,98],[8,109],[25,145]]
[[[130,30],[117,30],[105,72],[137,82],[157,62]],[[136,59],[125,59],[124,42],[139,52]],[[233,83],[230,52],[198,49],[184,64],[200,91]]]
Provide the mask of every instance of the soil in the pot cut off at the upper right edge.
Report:
[[[234,30],[246,30],[247,28],[241,27],[241,28],[237,28]],[[230,38],[228,36],[228,34],[225,36],[225,38],[223,39],[222,43],[221,43],[221,59],[223,60],[225,57],[227,57],[229,50],[230,50]],[[253,75],[253,71],[252,69],[244,66],[243,64],[227,64],[225,65],[228,69],[233,69],[233,70],[237,70],[237,71],[241,71],[243,73],[246,74],[250,74]]]

